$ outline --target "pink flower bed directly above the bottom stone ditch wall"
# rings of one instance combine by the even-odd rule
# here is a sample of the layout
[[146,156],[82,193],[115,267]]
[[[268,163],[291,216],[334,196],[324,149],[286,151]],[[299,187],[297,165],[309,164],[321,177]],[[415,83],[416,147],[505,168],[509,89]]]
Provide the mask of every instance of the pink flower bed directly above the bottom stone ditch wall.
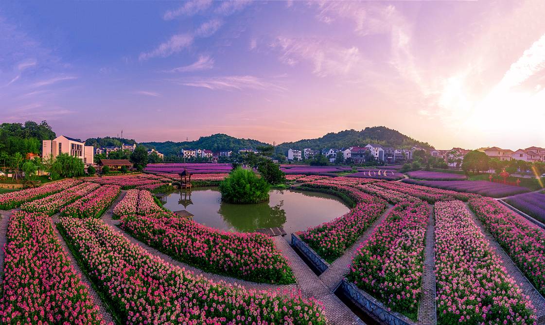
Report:
[[348,279],[391,310],[416,320],[429,205],[400,203],[360,247]]

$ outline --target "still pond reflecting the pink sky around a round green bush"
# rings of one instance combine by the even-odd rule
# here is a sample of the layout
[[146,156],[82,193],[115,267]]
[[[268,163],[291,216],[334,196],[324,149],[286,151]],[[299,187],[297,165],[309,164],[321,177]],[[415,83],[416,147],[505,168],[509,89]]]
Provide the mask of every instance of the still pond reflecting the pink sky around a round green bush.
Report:
[[187,210],[193,220],[212,228],[254,232],[282,227],[291,234],[342,216],[349,211],[334,195],[293,189],[272,190],[268,203],[230,204],[221,201],[217,187],[177,191],[166,197],[171,211]]

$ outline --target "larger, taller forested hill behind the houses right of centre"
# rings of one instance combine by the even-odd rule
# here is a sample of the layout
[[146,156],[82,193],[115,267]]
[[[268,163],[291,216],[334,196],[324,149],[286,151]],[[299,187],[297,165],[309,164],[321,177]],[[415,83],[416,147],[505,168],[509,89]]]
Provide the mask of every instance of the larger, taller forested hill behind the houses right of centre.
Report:
[[303,139],[297,142],[284,142],[276,146],[276,152],[287,154],[288,149],[311,148],[314,150],[325,148],[349,148],[350,146],[364,146],[366,144],[380,144],[395,148],[412,148],[421,146],[429,148],[426,142],[420,142],[399,131],[384,126],[366,127],[364,130],[345,130],[341,132],[331,132],[317,139]]

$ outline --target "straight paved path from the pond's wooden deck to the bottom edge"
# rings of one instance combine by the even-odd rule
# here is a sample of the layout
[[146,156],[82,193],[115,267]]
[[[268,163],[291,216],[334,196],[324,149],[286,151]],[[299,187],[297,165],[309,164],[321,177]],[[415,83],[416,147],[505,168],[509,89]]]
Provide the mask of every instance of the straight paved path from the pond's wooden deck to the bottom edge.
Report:
[[286,257],[292,267],[297,283],[306,297],[314,297],[322,302],[325,317],[330,324],[365,324],[329,289],[324,281],[301,260],[295,250],[281,236],[274,237],[276,248]]

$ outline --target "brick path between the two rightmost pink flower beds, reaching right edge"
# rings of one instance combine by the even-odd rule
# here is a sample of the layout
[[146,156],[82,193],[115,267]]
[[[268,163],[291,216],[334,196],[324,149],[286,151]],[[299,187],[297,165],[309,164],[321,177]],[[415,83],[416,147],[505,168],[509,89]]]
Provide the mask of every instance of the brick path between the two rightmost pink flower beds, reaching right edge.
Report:
[[492,247],[496,251],[496,255],[500,258],[502,265],[507,269],[507,272],[511,277],[516,281],[520,289],[522,289],[524,295],[530,298],[530,301],[537,309],[537,324],[545,324],[545,298],[540,295],[540,293],[535,289],[535,287],[530,283],[530,281],[524,276],[520,269],[515,265],[511,258],[505,253],[504,249],[501,248],[500,244],[495,241],[494,237],[490,235],[490,232],[486,227],[481,223],[481,220],[475,216],[475,213],[469,209],[467,205],[467,210],[471,213],[473,220],[477,227],[481,229],[483,235],[487,238]]

